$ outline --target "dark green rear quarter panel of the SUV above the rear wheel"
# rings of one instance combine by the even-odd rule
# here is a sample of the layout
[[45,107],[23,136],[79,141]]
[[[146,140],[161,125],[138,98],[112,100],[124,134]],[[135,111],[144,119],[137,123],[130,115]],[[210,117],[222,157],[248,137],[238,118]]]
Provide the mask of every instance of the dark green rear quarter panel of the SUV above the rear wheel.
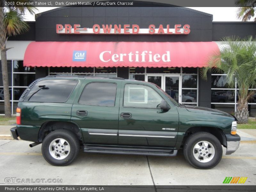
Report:
[[38,141],[41,126],[49,121],[70,122],[73,100],[82,82],[78,81],[68,100],[64,103],[19,102],[21,108],[21,125],[17,125],[20,139]]

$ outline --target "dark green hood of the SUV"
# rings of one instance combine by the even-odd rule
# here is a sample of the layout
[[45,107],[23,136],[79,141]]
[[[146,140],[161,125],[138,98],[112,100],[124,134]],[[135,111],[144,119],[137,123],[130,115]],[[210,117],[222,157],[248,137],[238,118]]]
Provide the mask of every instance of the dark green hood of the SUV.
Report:
[[217,110],[217,109],[211,109],[211,108],[205,108],[205,107],[196,107],[196,106],[192,106],[192,105],[185,105],[185,107],[189,112],[208,113],[208,114],[221,115],[221,116],[227,116],[227,117],[235,118],[234,116],[232,116],[232,115],[230,115],[226,112]]

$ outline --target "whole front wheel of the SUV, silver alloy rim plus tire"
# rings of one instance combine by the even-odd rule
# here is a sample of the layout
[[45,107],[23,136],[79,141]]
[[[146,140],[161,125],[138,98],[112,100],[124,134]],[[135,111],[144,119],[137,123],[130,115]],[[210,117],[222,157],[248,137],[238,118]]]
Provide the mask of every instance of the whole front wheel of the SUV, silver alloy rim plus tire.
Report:
[[183,153],[192,166],[198,169],[211,169],[221,160],[222,146],[214,135],[197,132],[186,140]]

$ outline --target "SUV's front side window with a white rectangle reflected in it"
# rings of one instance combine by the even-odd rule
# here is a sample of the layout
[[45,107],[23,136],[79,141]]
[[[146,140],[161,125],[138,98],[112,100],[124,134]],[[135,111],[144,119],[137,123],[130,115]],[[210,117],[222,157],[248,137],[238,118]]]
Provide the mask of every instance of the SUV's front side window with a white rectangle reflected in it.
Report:
[[151,87],[139,84],[124,86],[124,107],[157,108],[162,100]]

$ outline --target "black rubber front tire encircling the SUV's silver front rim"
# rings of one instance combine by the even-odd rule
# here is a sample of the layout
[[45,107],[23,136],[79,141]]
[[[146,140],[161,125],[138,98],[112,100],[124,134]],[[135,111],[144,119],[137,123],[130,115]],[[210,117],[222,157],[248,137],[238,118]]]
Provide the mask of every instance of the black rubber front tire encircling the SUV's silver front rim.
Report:
[[[204,158],[205,159],[207,159],[207,158],[205,156],[204,157],[199,156],[199,158],[197,160],[193,154],[194,146],[196,146],[196,144],[198,142],[200,144],[201,141],[207,141],[213,147],[213,149],[211,149],[211,150],[214,150],[214,155],[213,156],[208,155],[208,157],[210,159],[212,158],[209,162],[200,162],[200,161],[204,161],[203,160]],[[208,146],[209,147],[207,147],[207,149],[209,151],[211,146],[210,145],[208,145]],[[202,150],[203,153],[206,153],[205,151],[203,151],[202,147],[204,147],[204,146],[201,145],[200,149]],[[205,149],[205,150],[207,150],[207,149]],[[197,150],[195,149],[194,152],[196,154]],[[198,152],[199,152],[199,150],[198,150]],[[188,137],[188,139],[186,140],[186,142],[184,144],[184,148],[183,148],[183,154],[185,156],[185,159],[188,161],[188,163],[191,164],[193,167],[196,167],[197,169],[211,169],[212,167],[215,167],[221,160],[222,146],[220,144],[220,141],[214,135],[212,135],[208,132],[196,132],[196,133],[190,135]],[[207,155],[207,154],[205,154],[205,155]]]

